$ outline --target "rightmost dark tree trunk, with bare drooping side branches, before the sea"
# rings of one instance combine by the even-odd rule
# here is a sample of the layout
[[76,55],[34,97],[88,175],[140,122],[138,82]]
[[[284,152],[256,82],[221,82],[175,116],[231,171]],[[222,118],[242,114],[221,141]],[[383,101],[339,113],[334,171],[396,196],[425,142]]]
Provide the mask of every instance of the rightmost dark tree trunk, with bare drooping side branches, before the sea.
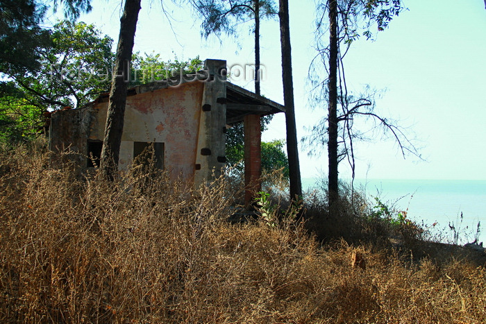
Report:
[[329,0],[329,79],[328,79],[328,197],[330,210],[339,197],[337,184],[337,0]]

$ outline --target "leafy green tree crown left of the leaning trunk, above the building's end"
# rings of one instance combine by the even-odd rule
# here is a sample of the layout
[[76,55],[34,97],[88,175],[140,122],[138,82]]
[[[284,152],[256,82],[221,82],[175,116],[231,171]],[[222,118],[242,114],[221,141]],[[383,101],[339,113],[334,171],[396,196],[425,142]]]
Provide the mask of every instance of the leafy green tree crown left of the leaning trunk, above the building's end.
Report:
[[11,74],[31,105],[79,108],[110,88],[112,39],[93,25],[59,22],[40,50],[40,69]]

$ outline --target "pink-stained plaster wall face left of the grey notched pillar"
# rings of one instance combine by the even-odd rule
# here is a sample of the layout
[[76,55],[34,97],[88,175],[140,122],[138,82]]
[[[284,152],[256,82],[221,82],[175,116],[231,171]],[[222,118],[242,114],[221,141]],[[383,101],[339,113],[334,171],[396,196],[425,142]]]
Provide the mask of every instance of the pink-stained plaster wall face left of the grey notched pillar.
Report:
[[[196,163],[199,122],[203,98],[202,82],[191,82],[128,96],[119,168],[133,162],[133,142],[162,142],[165,169],[171,178],[192,180]],[[108,103],[94,109],[90,139],[103,139]]]

